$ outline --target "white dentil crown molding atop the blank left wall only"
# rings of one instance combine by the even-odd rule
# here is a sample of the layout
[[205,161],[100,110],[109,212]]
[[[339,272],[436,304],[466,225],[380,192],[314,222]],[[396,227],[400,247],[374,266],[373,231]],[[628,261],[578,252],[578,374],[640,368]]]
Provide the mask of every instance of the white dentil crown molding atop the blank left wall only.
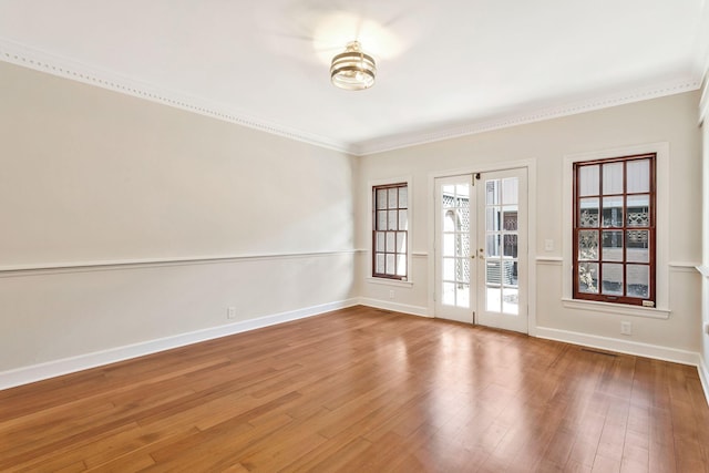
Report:
[[47,53],[25,47],[14,41],[0,38],[0,61],[47,72],[72,81],[83,82],[97,88],[107,89],[138,99],[181,109],[224,122],[282,136],[311,145],[349,153],[349,145],[336,142],[323,136],[304,133],[277,123],[271,123],[238,111],[228,110],[219,104],[212,103],[201,97],[189,96],[184,93],[166,90],[146,82],[126,78],[115,72],[90,66],[81,62]]

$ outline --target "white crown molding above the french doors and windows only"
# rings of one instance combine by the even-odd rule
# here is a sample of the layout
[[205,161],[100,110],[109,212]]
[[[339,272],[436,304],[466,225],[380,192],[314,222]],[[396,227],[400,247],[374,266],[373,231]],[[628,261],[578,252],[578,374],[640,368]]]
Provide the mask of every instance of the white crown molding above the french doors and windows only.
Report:
[[569,102],[558,106],[534,109],[500,116],[491,120],[480,120],[465,124],[458,124],[432,131],[418,133],[407,133],[395,136],[382,137],[359,143],[350,150],[356,156],[367,156],[388,151],[401,150],[410,146],[418,146],[428,143],[451,140],[477,133],[491,132],[494,130],[507,128],[511,126],[524,125],[528,123],[543,122],[552,119],[576,115],[579,113],[608,109],[617,105],[625,105],[634,102],[641,102],[650,99],[658,99],[667,95],[690,92],[700,89],[701,79],[689,78],[661,85],[635,89],[624,93],[596,96],[589,100]]

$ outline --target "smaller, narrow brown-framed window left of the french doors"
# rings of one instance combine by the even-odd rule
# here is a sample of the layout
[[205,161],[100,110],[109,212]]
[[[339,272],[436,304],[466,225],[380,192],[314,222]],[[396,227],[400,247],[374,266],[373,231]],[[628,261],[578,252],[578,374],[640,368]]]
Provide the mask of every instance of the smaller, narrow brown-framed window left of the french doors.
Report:
[[409,187],[407,183],[372,187],[372,276],[407,280]]

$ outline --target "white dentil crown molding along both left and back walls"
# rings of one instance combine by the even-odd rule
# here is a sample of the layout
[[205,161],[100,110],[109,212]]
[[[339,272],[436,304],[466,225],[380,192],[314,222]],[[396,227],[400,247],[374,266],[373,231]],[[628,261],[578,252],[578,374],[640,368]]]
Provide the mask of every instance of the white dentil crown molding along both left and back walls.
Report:
[[0,38],[0,60],[126,95],[132,95],[138,99],[157,102],[164,105],[185,110],[187,112],[247,126],[249,128],[275,134],[289,140],[309,143],[341,153],[349,153],[356,156],[400,150],[510,126],[541,122],[594,110],[672,95],[681,92],[695,91],[700,89],[702,85],[701,78],[688,79],[667,83],[661,86],[654,85],[640,90],[627,91],[623,94],[595,97],[561,106],[536,110],[530,109],[513,115],[482,120],[438,130],[421,130],[395,136],[384,136],[362,143],[341,143],[325,136],[304,133],[280,124],[247,116],[233,110],[226,110],[219,104],[208,103],[199,97],[188,96],[153,84],[121,76],[114,72],[88,66],[76,61],[28,48],[3,38]]

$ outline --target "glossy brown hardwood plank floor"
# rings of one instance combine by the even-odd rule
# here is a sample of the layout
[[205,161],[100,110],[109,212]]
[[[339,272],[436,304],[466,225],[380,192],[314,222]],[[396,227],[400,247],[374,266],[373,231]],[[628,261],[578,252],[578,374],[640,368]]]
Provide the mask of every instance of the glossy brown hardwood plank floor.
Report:
[[697,370],[364,307],[0,391],[0,470],[709,472]]

